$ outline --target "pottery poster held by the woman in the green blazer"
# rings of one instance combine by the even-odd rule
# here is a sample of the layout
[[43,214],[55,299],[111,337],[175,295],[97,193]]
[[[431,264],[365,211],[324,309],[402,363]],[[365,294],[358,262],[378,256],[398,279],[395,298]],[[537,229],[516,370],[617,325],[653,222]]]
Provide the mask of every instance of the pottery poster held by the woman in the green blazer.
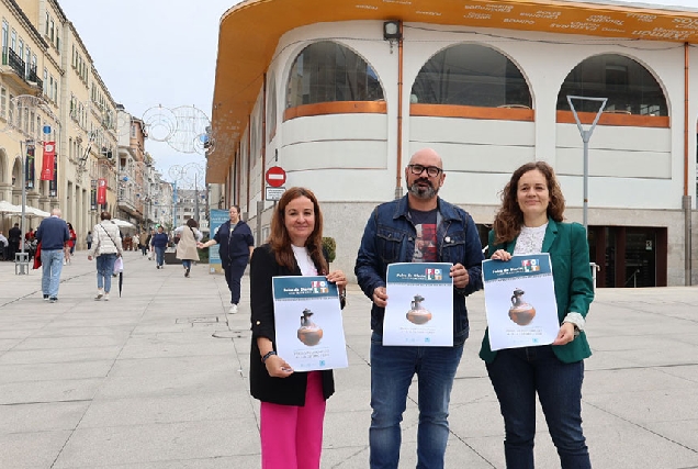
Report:
[[483,260],[489,347],[552,344],[558,332],[558,304],[549,254]]

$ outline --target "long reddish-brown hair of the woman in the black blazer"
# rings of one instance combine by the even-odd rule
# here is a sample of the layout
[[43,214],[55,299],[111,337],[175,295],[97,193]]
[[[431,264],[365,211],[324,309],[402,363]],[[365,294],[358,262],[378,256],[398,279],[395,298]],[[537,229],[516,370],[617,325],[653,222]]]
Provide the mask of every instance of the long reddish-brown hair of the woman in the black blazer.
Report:
[[323,255],[323,212],[320,212],[317,198],[309,189],[294,187],[286,190],[277,205],[277,210],[271,219],[271,233],[267,241],[271,246],[271,250],[274,253],[277,263],[280,266],[284,266],[289,270],[295,269],[295,257],[293,256],[293,248],[291,247],[291,237],[286,231],[285,213],[286,205],[300,197],[305,197],[313,202],[313,210],[315,212],[315,226],[313,233],[305,241],[305,248],[311,255],[311,259],[318,268],[318,275],[327,273],[327,261]]

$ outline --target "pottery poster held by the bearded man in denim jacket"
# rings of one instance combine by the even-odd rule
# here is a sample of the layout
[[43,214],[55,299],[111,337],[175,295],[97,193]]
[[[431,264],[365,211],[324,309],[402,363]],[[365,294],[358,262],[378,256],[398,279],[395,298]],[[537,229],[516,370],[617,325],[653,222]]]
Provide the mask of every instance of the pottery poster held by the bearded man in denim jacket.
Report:
[[387,266],[383,345],[453,345],[453,279],[448,263]]

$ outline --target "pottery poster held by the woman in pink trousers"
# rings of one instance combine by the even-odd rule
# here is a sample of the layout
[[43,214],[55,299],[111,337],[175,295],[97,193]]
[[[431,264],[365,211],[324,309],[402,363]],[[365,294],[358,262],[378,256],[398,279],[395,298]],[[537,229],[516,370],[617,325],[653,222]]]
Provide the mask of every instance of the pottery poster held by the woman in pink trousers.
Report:
[[277,354],[295,371],[346,368],[339,291],[325,277],[274,277]]

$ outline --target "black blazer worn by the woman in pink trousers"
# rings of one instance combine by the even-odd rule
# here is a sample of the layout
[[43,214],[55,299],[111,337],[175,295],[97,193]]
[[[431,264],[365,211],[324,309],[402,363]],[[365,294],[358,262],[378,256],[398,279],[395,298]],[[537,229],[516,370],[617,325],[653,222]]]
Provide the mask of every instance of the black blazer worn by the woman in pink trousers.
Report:
[[[263,402],[305,405],[307,372],[295,371],[288,378],[270,377],[267,367],[261,362],[261,355],[257,346],[258,337],[267,337],[272,342],[274,349],[277,348],[271,278],[300,275],[301,269],[297,265],[293,271],[290,271],[277,264],[269,244],[259,246],[252,253],[249,270],[250,306],[252,310],[249,388],[252,397]],[[331,370],[323,370],[320,373],[323,376],[323,394],[325,399],[328,399],[335,393],[335,378]]]

